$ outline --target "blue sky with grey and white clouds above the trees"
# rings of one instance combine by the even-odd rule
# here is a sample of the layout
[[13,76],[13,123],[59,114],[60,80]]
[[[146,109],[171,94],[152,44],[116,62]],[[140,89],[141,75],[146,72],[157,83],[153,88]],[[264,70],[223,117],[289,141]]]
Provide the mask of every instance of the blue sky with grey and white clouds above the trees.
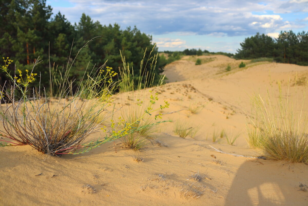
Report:
[[308,0],[47,0],[71,22],[82,13],[103,25],[135,26],[159,51],[201,48],[235,53],[257,32],[308,31]]

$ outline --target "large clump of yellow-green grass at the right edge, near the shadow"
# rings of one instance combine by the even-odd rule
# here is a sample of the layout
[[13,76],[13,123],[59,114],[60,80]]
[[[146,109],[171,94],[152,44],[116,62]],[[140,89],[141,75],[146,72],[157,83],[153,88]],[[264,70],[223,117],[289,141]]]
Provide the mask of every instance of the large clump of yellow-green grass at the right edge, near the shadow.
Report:
[[[307,85],[308,81],[306,88]],[[252,126],[247,127],[248,143],[263,150],[269,158],[308,163],[308,119],[303,110],[305,92],[300,94],[303,101],[298,102],[289,94],[290,86],[286,95],[279,81],[278,88],[278,97],[267,89],[265,99],[259,94],[252,98],[254,118],[249,117]]]

